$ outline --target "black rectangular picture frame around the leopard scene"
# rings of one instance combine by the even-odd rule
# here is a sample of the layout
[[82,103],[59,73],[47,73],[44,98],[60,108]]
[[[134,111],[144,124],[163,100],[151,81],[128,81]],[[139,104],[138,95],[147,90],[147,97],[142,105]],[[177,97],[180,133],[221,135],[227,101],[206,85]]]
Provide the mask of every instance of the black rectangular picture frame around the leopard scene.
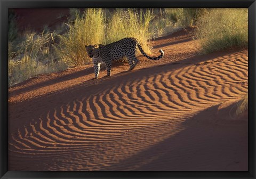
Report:
[[[8,171],[8,127],[7,127],[7,29],[9,8],[46,7],[243,7],[249,9],[249,170],[247,172],[15,172]],[[35,1],[1,0],[0,21],[0,113],[1,113],[1,178],[256,178],[255,177],[255,0],[81,0],[81,1]]]

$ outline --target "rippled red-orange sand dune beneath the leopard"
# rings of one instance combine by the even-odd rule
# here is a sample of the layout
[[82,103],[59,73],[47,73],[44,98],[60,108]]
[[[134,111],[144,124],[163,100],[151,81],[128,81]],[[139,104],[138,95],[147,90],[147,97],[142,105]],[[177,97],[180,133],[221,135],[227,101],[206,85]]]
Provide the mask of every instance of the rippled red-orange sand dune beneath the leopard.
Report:
[[154,67],[141,58],[99,80],[76,69],[10,89],[9,170],[247,170],[247,118],[226,105],[247,92],[247,51],[193,56],[190,37],[157,39],[169,53]]

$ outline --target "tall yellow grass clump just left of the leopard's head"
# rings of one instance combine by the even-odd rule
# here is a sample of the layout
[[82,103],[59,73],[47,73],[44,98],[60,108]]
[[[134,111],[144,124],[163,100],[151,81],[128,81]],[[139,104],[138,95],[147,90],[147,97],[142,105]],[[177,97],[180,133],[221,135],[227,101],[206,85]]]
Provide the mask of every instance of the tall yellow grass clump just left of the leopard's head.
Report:
[[75,20],[66,25],[68,31],[58,35],[60,43],[55,44],[55,51],[69,67],[90,63],[85,45],[102,43],[105,26],[102,9],[86,9],[82,16],[77,13]]

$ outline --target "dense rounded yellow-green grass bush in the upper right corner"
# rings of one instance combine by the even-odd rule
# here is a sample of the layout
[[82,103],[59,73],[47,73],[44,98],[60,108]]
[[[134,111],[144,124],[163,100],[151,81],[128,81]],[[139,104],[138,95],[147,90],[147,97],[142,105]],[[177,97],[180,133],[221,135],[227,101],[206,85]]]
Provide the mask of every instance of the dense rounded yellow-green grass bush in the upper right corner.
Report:
[[248,46],[247,9],[212,9],[197,24],[203,53]]

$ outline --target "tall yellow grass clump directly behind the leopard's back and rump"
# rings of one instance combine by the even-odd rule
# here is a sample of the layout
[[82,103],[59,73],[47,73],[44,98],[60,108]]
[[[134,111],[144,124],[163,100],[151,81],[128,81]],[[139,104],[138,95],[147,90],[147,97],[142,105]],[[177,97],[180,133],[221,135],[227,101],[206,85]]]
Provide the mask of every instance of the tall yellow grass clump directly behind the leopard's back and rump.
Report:
[[151,54],[148,40],[153,35],[149,28],[152,19],[153,12],[151,10],[143,12],[134,9],[117,9],[108,21],[106,41],[103,44],[109,44],[125,37],[135,37],[139,40],[143,50]]

